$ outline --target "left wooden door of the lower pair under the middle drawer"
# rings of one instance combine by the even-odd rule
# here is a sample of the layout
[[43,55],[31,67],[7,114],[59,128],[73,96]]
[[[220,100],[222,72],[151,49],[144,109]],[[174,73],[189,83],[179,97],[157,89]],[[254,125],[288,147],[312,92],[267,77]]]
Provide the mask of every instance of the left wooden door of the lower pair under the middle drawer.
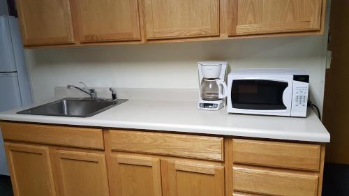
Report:
[[161,196],[158,158],[113,154],[111,160],[112,196]]

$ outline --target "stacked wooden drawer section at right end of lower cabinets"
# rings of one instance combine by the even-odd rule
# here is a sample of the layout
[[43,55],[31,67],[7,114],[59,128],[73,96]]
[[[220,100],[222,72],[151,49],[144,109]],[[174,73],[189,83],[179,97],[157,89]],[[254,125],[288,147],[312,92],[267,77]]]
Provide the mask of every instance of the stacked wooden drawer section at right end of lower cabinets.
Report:
[[228,141],[228,195],[320,196],[325,146],[260,140]]

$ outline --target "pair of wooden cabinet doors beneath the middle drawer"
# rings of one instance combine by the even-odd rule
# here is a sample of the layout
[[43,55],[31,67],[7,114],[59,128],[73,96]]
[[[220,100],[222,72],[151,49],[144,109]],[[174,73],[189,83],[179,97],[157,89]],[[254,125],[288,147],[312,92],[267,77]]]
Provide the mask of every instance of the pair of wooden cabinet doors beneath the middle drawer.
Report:
[[112,196],[223,196],[222,163],[112,153]]

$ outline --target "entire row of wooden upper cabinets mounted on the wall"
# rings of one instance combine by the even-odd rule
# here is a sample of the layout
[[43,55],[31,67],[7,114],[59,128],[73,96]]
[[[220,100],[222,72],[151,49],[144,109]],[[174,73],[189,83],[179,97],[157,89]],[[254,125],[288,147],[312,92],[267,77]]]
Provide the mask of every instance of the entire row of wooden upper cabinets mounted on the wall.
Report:
[[[23,45],[322,33],[326,0],[16,0]],[[70,13],[71,10],[71,13]],[[230,38],[229,38],[230,36]]]

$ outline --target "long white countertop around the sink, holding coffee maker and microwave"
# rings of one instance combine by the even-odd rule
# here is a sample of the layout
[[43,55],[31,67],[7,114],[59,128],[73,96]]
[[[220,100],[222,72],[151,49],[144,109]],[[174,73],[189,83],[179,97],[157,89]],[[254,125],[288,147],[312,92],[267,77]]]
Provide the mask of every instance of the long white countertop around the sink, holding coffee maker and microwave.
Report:
[[[43,103],[36,105],[41,104]],[[255,116],[227,114],[226,108],[219,111],[198,110],[197,102],[194,101],[128,100],[88,118],[16,114],[27,108],[30,107],[2,112],[0,120],[166,130],[305,142],[329,142],[330,139],[329,133],[313,110],[308,110],[306,118]]]

